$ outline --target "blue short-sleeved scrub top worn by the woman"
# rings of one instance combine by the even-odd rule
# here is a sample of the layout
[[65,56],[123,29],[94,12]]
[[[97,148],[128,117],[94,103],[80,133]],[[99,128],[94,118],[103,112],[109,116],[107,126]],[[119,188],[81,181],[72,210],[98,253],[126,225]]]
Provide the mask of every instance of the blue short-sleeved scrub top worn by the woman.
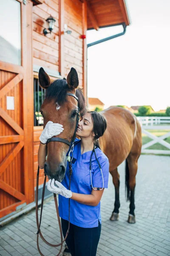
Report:
[[[71,191],[80,194],[91,195],[92,186],[90,180],[90,157],[92,151],[81,154],[81,140],[76,138],[77,144],[74,147],[75,163],[72,164],[71,175]],[[109,161],[108,157],[99,149],[96,148],[96,157],[102,168],[104,178],[104,188],[108,188],[109,176]],[[103,187],[102,174],[99,169],[95,154],[91,161],[91,178],[93,186],[96,188]],[[69,168],[65,172],[65,177],[62,180],[62,185],[69,189]],[[68,221],[68,198],[59,195],[59,215],[61,218]],[[100,202],[97,206],[81,204],[70,199],[70,222],[79,227],[98,227],[98,220],[101,223]]]

